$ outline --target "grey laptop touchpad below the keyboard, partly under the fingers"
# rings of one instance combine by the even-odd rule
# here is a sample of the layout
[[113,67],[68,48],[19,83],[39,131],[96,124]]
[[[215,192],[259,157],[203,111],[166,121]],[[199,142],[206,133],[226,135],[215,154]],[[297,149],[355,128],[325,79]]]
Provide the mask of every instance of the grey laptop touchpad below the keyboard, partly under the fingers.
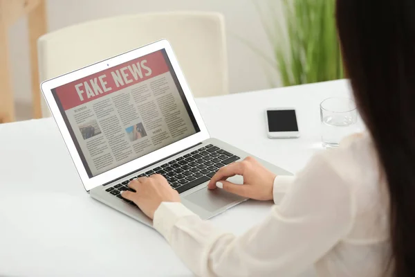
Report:
[[[235,177],[232,177],[232,179],[235,179]],[[232,179],[228,180],[236,181]],[[241,184],[239,180],[235,183]],[[185,199],[192,202],[193,204],[201,206],[206,211],[214,212],[220,208],[223,208],[224,206],[232,204],[233,202],[240,202],[244,198],[232,193],[228,193],[221,188],[216,188],[215,190],[208,190],[208,188],[203,188],[192,193],[191,195],[187,195]]]

